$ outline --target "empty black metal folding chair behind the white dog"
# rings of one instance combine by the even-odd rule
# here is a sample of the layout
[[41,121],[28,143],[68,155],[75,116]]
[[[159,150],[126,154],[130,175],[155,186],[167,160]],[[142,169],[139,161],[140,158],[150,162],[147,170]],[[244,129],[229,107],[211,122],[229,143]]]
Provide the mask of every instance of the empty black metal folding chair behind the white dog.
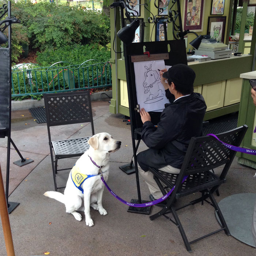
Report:
[[[68,93],[44,94],[45,113],[49,137],[50,155],[55,191],[64,187],[57,187],[56,174],[59,159],[78,157],[89,148],[87,143],[91,136],[75,139],[52,141],[50,127],[77,123],[91,123],[91,132],[94,135],[93,114],[91,110],[90,91],[75,91]],[[55,159],[53,159],[53,151]],[[55,161],[54,161],[55,160]],[[54,164],[55,163],[55,164]]]

